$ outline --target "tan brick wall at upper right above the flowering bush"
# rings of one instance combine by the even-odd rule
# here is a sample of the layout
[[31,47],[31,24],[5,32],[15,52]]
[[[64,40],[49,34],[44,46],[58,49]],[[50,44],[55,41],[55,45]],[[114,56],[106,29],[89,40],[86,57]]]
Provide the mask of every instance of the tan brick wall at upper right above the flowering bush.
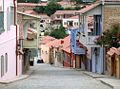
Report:
[[103,29],[109,29],[115,22],[120,23],[120,6],[104,6],[103,12]]

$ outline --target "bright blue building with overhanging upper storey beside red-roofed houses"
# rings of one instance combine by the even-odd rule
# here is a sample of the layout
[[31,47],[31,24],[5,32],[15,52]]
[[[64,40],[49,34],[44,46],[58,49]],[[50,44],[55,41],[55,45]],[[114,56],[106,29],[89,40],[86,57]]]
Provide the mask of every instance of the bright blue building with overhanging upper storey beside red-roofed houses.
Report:
[[70,46],[72,52],[72,64],[74,68],[86,69],[86,51],[87,48],[79,42],[79,33],[78,28],[71,28],[70,30]]

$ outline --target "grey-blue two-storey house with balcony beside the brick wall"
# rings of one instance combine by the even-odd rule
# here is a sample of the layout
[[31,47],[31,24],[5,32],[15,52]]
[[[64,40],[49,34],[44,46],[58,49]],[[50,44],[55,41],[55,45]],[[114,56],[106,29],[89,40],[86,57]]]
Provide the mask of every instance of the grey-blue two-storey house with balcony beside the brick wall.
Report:
[[90,50],[88,54],[91,57],[87,57],[87,67],[92,72],[99,74],[104,73],[104,48],[95,43],[103,31],[101,8],[102,3],[98,2],[77,12],[82,31],[79,35],[79,41]]

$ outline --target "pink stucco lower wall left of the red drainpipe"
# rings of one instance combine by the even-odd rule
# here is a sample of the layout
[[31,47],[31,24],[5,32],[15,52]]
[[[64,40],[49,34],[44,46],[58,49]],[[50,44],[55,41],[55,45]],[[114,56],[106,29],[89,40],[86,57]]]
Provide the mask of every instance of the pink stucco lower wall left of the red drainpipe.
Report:
[[[8,54],[8,71],[0,80],[9,80],[16,77],[16,29],[12,27],[11,30],[0,35],[0,66],[1,55]],[[0,67],[1,75],[1,67]]]

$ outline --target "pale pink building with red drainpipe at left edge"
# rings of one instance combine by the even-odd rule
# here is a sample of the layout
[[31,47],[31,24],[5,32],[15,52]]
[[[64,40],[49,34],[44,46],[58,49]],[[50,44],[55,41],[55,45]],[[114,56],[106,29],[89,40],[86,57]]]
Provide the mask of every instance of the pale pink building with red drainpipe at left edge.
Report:
[[[4,3],[4,4],[3,4]],[[16,0],[0,0],[0,82],[22,74],[22,48],[18,46]]]

